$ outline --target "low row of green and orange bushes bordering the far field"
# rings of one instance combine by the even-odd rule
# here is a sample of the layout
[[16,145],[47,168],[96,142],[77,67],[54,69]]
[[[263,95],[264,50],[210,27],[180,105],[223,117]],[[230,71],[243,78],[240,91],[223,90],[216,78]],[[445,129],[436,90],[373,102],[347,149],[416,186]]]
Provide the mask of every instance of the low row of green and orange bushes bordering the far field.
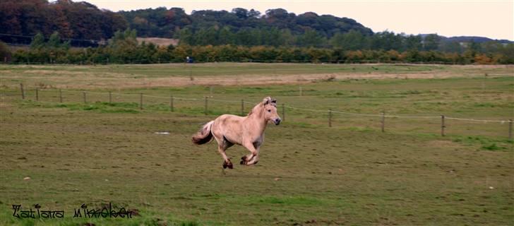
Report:
[[196,62],[297,62],[297,63],[437,63],[437,64],[514,64],[514,44],[495,46],[486,52],[486,43],[474,43],[462,53],[441,52],[423,47],[397,51],[395,49],[243,46],[234,44],[189,44],[156,46],[136,40],[136,30],[114,33],[109,43],[100,47],[74,48],[63,41],[58,32],[48,39],[38,34],[28,49],[11,52],[0,43],[4,60],[15,64],[159,64],[184,62],[191,57]]

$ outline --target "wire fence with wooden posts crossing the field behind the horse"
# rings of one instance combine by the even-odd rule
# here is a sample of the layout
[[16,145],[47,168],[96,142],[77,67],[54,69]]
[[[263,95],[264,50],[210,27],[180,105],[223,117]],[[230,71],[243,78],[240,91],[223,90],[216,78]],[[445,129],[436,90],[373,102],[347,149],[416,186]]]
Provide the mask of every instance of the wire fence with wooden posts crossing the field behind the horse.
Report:
[[[21,91],[22,99],[25,99],[25,91],[28,91],[28,90],[23,88],[23,84],[20,84],[20,91]],[[212,96],[193,98],[193,97],[177,97],[172,94],[170,94],[169,96],[160,96],[160,95],[148,95],[148,94],[143,94],[143,93],[138,93],[138,94],[137,93],[113,93],[113,92],[96,92],[96,91],[85,91],[85,90],[84,91],[61,90],[61,89],[44,89],[44,88],[43,89],[40,89],[40,88],[30,89],[30,91],[35,92],[35,100],[36,101],[40,101],[40,98],[41,98],[40,91],[59,92],[58,96],[53,96],[53,97],[58,97],[59,102],[64,102],[63,93],[79,95],[78,97],[75,98],[75,100],[76,100],[75,102],[79,102],[78,100],[80,99],[80,95],[81,95],[82,102],[84,102],[84,103],[91,102],[91,101],[88,101],[88,94],[102,95],[103,98],[97,97],[96,101],[99,101],[100,99],[102,99],[102,100],[104,100],[103,102],[107,102],[107,97],[108,97],[109,103],[113,102],[112,97],[114,95],[114,96],[132,97],[133,99],[130,102],[137,102],[137,100],[139,100],[138,107],[140,109],[143,109],[145,107],[144,105],[149,105],[149,104],[151,105],[152,103],[154,105],[155,104],[157,104],[157,105],[169,104],[169,110],[172,112],[174,112],[174,109],[176,108],[176,106],[174,106],[175,100],[182,100],[182,101],[187,101],[187,102],[191,102],[191,101],[192,102],[203,102],[203,113],[204,114],[209,114],[209,112],[210,112],[209,102],[225,102],[225,103],[229,103],[231,105],[232,104],[240,104],[241,105],[241,115],[246,114],[245,109],[247,109],[248,106],[253,107],[253,105],[258,104],[258,102],[248,102],[248,101],[245,101],[242,99],[241,100],[220,100],[220,99],[213,98]],[[68,97],[69,97],[69,95],[68,95]],[[144,98],[144,97],[152,97],[152,98],[158,98],[160,100],[168,100],[168,102],[166,102],[166,103],[152,102],[148,98]],[[53,99],[53,100],[55,100],[55,99]],[[114,101],[116,101],[116,100],[114,100]],[[146,103],[145,103],[145,101],[146,101]],[[120,102],[120,101],[116,101],[116,102]],[[198,108],[197,105],[195,105],[195,106],[189,105],[187,107]],[[279,108],[279,107],[280,106],[277,106],[277,108]],[[333,110],[333,109],[309,109],[309,108],[293,107],[293,106],[285,105],[285,104],[282,104],[281,108],[282,108],[283,119],[285,119],[286,114],[288,114],[288,117],[289,117],[289,114],[292,113],[292,112],[287,113],[285,109],[293,109],[293,110],[297,110],[297,111],[301,111],[301,112],[325,113],[328,115],[328,126],[330,126],[330,127],[333,124],[333,114],[349,115],[349,116],[354,116],[354,117],[378,118],[378,119],[381,119],[380,121],[381,121],[381,130],[382,131],[385,130],[385,119],[386,118],[388,118],[388,119],[396,119],[396,118],[398,118],[398,119],[440,119],[441,120],[441,136],[445,136],[445,129],[448,126],[448,124],[446,124],[446,121],[448,121],[448,120],[465,121],[468,123],[480,123],[480,124],[506,124],[506,123],[508,123],[508,138],[509,139],[513,138],[513,129],[512,129],[513,128],[513,120],[512,119],[503,119],[503,120],[470,119],[470,118],[460,118],[460,117],[448,117],[443,114],[441,114],[441,115],[406,115],[406,114],[386,114],[385,112],[382,112],[381,114],[368,114],[368,113],[359,113],[359,112],[344,112],[344,111]],[[212,109],[212,107],[211,107],[211,109]],[[223,109],[221,112],[224,112],[224,111],[226,112],[227,109]]]

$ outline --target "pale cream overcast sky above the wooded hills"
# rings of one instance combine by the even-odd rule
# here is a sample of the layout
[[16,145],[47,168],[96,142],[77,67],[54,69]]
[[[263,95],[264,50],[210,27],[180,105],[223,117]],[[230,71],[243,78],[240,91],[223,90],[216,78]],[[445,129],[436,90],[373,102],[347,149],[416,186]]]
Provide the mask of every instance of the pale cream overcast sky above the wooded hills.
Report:
[[[79,0],[76,0],[79,1]],[[514,0],[85,0],[98,8],[129,11],[141,8],[184,8],[226,10],[254,8],[262,14],[284,8],[301,14],[314,12],[357,20],[373,32],[384,30],[405,34],[437,33],[443,36],[482,36],[514,40]]]

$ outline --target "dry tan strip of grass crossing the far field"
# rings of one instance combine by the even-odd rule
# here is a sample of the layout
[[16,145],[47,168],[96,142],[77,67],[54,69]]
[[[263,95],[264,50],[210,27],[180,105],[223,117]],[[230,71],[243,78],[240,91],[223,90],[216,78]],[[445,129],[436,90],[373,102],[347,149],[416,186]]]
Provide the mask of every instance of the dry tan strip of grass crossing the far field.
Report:
[[[38,72],[40,73],[40,72]],[[335,81],[345,79],[414,79],[414,78],[453,78],[457,77],[450,73],[410,73],[410,74],[299,74],[299,75],[240,75],[240,76],[202,76],[199,78],[185,76],[169,76],[168,78],[141,78],[141,76],[127,76],[121,73],[102,73],[90,76],[83,72],[76,72],[80,77],[61,78],[61,76],[51,76],[52,74],[64,74],[64,72],[45,71],[49,76],[31,76],[32,80],[58,81],[53,85],[55,88],[153,88],[153,87],[184,87],[189,85],[285,85],[313,83],[316,81]],[[23,78],[23,76],[13,76],[11,78]],[[123,78],[122,81],[119,79]],[[15,87],[16,85],[11,85]]]

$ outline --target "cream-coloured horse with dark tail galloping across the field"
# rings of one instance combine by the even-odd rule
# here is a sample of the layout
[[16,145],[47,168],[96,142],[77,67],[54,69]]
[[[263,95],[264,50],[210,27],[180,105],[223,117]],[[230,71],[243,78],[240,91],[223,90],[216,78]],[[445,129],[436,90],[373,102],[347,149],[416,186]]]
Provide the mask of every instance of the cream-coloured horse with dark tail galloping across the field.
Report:
[[223,169],[233,168],[230,158],[225,150],[232,145],[241,145],[250,153],[241,157],[241,165],[255,165],[259,160],[259,148],[264,141],[264,130],[268,122],[275,125],[280,124],[280,117],[277,114],[277,100],[265,97],[251,109],[246,117],[233,114],[222,114],[213,121],[204,124],[191,139],[194,144],[201,145],[208,143],[215,138],[217,150],[223,157]]

